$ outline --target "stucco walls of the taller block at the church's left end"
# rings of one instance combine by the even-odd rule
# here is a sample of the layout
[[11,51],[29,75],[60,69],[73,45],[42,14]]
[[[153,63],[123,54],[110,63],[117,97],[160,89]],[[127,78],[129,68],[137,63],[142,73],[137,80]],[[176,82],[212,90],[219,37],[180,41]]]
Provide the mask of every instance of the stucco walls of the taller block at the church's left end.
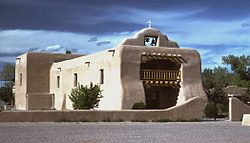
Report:
[[[81,55],[28,52],[16,59],[15,105],[26,110],[28,93],[49,93],[49,73],[53,62],[79,57]],[[22,73],[22,86],[20,86]]]

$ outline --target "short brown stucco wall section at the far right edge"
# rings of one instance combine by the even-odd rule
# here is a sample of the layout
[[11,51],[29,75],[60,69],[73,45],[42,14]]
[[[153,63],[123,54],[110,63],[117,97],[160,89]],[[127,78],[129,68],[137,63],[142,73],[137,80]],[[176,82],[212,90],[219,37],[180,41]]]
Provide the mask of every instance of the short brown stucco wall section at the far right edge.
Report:
[[241,121],[243,114],[250,114],[250,106],[246,105],[236,97],[229,98],[229,120]]

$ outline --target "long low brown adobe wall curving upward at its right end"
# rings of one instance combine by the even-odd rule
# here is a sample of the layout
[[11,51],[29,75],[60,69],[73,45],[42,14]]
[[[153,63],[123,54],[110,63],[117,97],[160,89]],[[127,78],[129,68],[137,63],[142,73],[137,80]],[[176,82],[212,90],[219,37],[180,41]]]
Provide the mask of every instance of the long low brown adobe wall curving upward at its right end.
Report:
[[0,122],[55,121],[160,121],[201,119],[205,100],[199,97],[165,110],[74,110],[74,111],[9,111],[0,112]]

